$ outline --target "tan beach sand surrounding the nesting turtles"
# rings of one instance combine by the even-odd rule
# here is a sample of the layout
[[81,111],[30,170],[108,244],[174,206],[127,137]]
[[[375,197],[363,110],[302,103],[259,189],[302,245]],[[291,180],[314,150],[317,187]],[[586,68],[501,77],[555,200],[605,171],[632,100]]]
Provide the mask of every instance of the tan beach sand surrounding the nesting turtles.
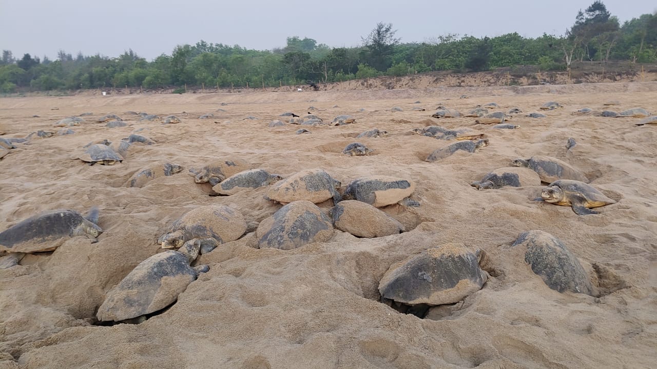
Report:
[[[490,145],[474,154],[424,162],[451,142],[409,133],[432,123],[474,123],[430,118],[438,104],[466,112],[497,102],[505,111],[529,113],[551,100],[564,108],[543,119],[517,116],[510,123],[518,130],[476,127]],[[1,98],[3,137],[57,131],[58,119],[94,114],[72,127],[74,135],[18,144],[0,161],[0,230],[49,209],[99,206],[104,233],[96,244],[73,238],[0,270],[0,368],[654,368],[657,126],[636,127],[641,118],[570,115],[583,107],[602,110],[607,100],[621,102],[613,110],[657,112],[657,83]],[[295,135],[297,125],[267,127],[279,114],[303,116],[309,106],[325,121],[339,114],[357,121],[306,127],[309,135]],[[393,106],[404,111],[390,112]],[[427,110],[411,111],[415,106]],[[182,123],[139,123],[128,110],[177,114]],[[215,118],[197,119],[208,112]],[[129,125],[91,123],[110,113]],[[244,120],[250,115],[260,119]],[[120,140],[143,127],[157,143],[133,146],[122,163],[89,166],[76,159],[90,141]],[[341,154],[355,135],[373,128],[390,132],[358,140],[374,155]],[[578,142],[570,152],[568,137]],[[570,163],[618,203],[578,216],[569,207],[533,202],[541,186],[470,186],[533,155]],[[336,230],[328,242],[284,251],[254,248],[257,240],[248,234],[199,257],[196,263],[210,271],[164,313],[138,325],[94,325],[108,290],[162,251],[158,236],[186,211],[221,204],[260,222],[281,207],[263,199],[267,187],[211,197],[208,184],[194,183],[189,168],[229,157],[283,177],[321,167],[343,185],[369,175],[411,179],[417,185],[411,198],[421,206],[384,208],[408,232],[382,238]],[[185,169],[143,188],[125,186],[154,162]],[[326,211],[332,200],[319,206]],[[533,274],[522,253],[510,249],[532,229],[560,238],[599,296],[558,293]],[[491,277],[482,290],[432,315],[436,320],[378,301],[378,282],[391,265],[452,242],[486,252]]]

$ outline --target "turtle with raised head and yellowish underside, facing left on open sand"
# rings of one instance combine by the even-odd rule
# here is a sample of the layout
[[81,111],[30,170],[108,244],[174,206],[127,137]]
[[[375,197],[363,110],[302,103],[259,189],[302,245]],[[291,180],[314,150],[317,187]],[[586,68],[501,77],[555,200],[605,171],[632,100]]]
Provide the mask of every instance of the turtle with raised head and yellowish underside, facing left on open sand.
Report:
[[572,179],[559,179],[549,184],[541,191],[541,199],[550,204],[571,206],[578,215],[597,214],[589,209],[616,204],[592,186]]

